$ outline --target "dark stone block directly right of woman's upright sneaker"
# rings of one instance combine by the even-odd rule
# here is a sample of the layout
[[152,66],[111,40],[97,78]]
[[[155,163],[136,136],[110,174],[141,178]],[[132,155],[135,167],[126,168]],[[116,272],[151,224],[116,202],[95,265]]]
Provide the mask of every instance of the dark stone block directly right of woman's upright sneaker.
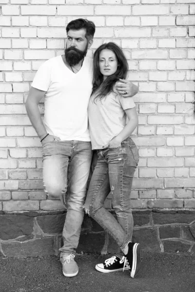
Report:
[[141,228],[134,230],[133,241],[141,244],[141,248],[146,251],[160,251],[160,244],[156,228]]

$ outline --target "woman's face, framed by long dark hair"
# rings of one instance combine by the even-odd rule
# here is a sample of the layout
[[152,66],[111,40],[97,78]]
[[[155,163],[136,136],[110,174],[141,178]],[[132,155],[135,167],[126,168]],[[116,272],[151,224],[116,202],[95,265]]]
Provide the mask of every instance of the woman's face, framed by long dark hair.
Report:
[[99,70],[103,75],[103,80],[117,71],[117,57],[109,49],[104,49],[99,54]]

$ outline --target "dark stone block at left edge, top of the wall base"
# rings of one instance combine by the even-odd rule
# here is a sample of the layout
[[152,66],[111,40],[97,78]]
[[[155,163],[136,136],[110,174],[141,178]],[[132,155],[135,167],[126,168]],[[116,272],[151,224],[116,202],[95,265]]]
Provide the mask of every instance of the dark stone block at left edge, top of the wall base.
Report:
[[13,239],[33,232],[33,218],[24,215],[0,215],[0,238]]

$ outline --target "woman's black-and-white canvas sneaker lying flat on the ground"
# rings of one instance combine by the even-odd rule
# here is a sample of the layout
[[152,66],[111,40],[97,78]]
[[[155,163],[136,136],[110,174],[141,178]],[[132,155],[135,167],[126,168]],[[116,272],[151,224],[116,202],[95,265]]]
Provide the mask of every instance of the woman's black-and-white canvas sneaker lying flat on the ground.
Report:
[[102,273],[124,271],[129,270],[129,268],[125,256],[123,256],[122,259],[117,256],[112,256],[111,258],[106,259],[103,264],[96,265],[96,270]]

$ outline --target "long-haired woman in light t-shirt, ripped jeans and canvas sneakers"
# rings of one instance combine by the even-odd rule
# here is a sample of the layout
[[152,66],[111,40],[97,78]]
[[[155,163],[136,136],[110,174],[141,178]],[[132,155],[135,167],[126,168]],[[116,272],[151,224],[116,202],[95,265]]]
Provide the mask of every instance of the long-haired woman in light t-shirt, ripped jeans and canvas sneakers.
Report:
[[[125,79],[127,73],[127,60],[115,43],[105,43],[96,50],[88,118],[92,149],[97,150],[98,162],[83,207],[117,241],[123,253],[96,265],[96,269],[102,273],[130,269],[131,277],[135,277],[140,246],[132,242],[130,193],[138,151],[129,136],[138,120],[133,99],[123,98],[115,90],[116,82]],[[110,191],[117,219],[104,208]]]

